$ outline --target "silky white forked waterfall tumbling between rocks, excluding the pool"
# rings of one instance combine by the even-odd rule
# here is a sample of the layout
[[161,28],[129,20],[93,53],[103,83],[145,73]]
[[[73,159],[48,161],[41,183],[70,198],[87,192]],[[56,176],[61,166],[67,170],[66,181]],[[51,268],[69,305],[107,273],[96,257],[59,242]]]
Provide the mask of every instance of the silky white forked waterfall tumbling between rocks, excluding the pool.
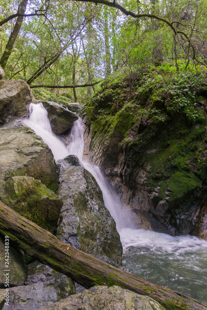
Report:
[[70,144],[67,146],[63,139],[52,132],[50,122],[47,118],[47,110],[42,103],[30,104],[29,118],[24,119],[24,123],[32,128],[36,135],[42,137],[43,141],[51,148],[55,160],[64,158],[68,155],[76,155],[81,165],[88,170],[96,179],[101,191],[106,208],[116,222],[117,231],[122,228],[133,228],[131,221],[131,211],[123,206],[121,199],[102,174],[101,170],[83,160],[84,149],[84,130],[83,122],[79,118],[73,123],[70,133]]

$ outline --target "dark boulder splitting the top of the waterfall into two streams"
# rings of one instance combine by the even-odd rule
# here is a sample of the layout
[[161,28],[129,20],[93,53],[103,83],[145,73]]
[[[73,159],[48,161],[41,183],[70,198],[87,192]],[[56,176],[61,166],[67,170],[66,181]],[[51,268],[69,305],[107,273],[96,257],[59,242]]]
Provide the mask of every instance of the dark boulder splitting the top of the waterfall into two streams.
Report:
[[43,107],[46,108],[48,118],[51,123],[52,131],[58,135],[61,134],[73,126],[73,122],[78,119],[75,113],[68,111],[62,105],[56,102],[42,102]]

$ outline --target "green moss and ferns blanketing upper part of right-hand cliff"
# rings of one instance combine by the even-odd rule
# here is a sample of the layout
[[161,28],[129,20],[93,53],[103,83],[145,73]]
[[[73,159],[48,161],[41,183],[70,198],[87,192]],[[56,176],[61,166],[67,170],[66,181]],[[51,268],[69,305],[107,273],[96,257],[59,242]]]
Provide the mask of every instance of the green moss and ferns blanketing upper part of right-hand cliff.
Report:
[[129,169],[142,167],[149,189],[159,186],[159,197],[173,200],[207,178],[207,74],[165,69],[145,68],[109,81],[85,111],[90,148],[99,144],[107,159],[116,139]]

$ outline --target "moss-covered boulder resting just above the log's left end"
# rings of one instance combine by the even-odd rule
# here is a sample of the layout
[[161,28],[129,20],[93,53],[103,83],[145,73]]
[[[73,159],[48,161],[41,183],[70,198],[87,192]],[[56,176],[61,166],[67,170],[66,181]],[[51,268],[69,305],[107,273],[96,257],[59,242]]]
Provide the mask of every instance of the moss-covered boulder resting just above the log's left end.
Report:
[[54,231],[63,205],[40,180],[26,176],[0,181],[0,200],[49,232]]

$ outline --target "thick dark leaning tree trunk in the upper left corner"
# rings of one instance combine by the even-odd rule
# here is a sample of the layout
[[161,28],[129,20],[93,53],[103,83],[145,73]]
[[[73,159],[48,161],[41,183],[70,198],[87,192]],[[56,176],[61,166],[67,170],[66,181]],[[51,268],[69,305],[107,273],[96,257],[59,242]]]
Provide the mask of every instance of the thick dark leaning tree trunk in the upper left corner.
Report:
[[[20,2],[19,7],[18,7],[18,13],[25,14],[27,3],[28,3],[28,0],[22,0],[22,2]],[[3,69],[5,69],[9,56],[11,55],[11,51],[14,46],[14,42],[19,34],[23,18],[24,18],[23,16],[17,17],[16,23],[14,25],[14,29],[12,30],[10,34],[4,53],[0,59],[0,66],[2,66]]]

